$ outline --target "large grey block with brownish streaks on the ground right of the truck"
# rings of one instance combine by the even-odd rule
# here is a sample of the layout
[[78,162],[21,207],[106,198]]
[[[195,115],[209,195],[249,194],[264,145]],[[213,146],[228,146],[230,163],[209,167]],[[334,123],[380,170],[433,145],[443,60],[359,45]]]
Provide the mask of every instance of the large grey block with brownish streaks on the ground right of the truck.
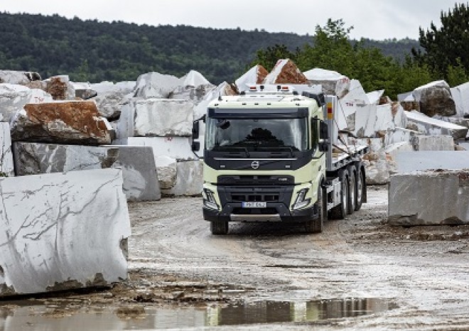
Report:
[[403,226],[468,224],[468,200],[468,170],[393,175],[388,222]]

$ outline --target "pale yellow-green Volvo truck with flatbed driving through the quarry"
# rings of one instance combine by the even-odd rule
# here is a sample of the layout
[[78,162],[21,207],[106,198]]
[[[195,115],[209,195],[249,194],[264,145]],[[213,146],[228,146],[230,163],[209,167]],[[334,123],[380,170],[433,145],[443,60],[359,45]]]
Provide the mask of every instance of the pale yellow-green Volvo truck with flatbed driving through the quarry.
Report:
[[254,85],[212,101],[205,121],[203,216],[212,234],[230,222],[301,223],[323,230],[366,202],[366,146],[338,130],[338,99],[320,85]]

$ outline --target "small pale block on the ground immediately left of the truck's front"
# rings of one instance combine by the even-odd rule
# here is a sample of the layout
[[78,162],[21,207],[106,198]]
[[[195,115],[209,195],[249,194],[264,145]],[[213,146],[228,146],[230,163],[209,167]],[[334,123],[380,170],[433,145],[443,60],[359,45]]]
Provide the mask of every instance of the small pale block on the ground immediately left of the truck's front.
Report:
[[177,167],[176,183],[173,188],[162,190],[163,195],[200,195],[203,189],[203,161],[181,161]]

